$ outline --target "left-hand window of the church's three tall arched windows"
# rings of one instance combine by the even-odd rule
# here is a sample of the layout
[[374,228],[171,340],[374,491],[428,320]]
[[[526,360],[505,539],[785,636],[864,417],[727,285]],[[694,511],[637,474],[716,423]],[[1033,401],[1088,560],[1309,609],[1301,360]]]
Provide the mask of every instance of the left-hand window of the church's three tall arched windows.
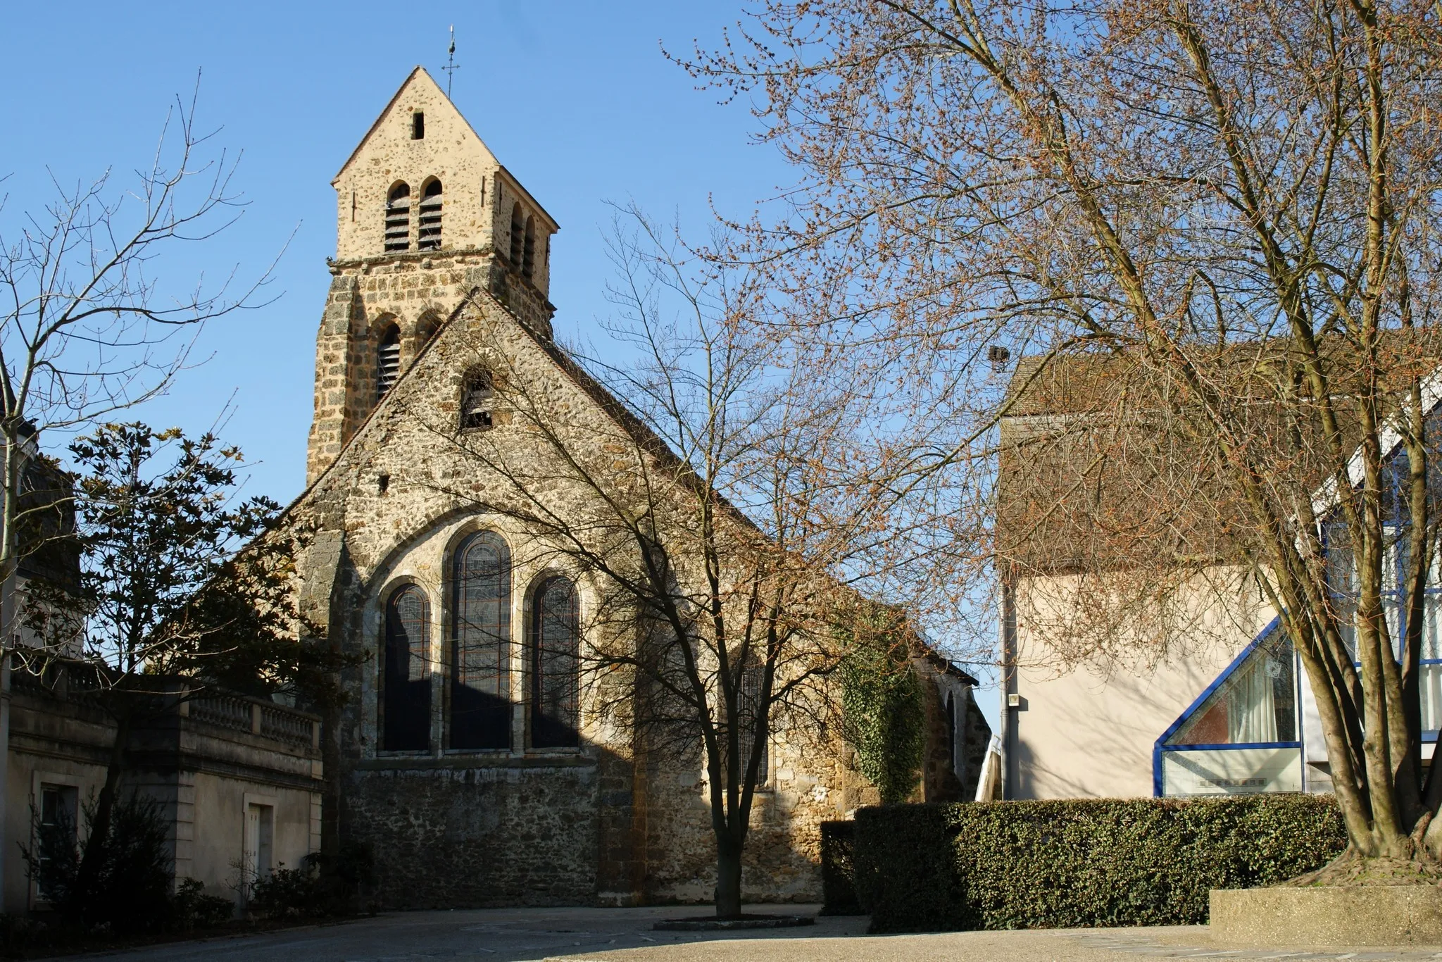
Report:
[[381,675],[381,747],[424,751],[431,747],[431,676],[425,656],[431,606],[414,584],[385,603],[385,668]]

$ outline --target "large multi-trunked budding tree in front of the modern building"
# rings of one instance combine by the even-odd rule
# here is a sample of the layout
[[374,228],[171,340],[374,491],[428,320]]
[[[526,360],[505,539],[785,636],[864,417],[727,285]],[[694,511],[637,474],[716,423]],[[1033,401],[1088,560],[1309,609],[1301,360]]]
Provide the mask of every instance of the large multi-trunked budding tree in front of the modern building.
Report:
[[[1423,777],[1419,756],[1439,58],[1436,6],[1371,0],[757,0],[727,46],[685,58],[754,98],[800,172],[750,252],[838,358],[963,385],[970,451],[1021,394],[986,345],[1035,356],[1032,384],[1094,362],[1069,423],[1112,446],[1067,496],[1113,469],[1148,487],[1141,511],[1073,512],[1126,560],[1080,551],[1079,574],[1116,575],[1092,597],[1149,581],[1172,600],[1185,578],[1139,564],[1256,575],[1317,694],[1351,841],[1334,875],[1435,874],[1442,852],[1442,766]],[[1070,511],[1034,508],[1032,532]],[[1227,537],[1198,545],[1188,513],[1208,512]]]

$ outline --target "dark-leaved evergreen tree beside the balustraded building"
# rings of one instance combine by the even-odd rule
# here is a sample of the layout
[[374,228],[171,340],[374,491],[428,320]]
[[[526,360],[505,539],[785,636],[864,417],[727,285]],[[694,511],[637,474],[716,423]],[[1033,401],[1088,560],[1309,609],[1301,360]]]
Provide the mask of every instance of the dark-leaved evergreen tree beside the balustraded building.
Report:
[[136,727],[215,687],[324,705],[346,662],[296,640],[291,545],[268,534],[274,502],[236,498],[236,449],[107,424],[76,438],[71,459],[79,586],[32,588],[22,616],[45,643],[23,653],[42,676],[68,674],[115,724],[68,906],[91,922]]

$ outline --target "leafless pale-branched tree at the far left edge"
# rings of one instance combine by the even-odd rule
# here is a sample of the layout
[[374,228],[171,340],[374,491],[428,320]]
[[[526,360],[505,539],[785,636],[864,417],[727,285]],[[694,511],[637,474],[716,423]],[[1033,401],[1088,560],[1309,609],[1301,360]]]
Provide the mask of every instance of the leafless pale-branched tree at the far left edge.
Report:
[[231,183],[236,162],[224,150],[206,157],[213,134],[195,123],[193,95],[167,115],[134,185],[118,187],[110,172],[74,187],[52,180],[53,199],[0,234],[0,583],[7,586],[0,650],[14,636],[10,599],[22,548],[39,547],[22,532],[32,513],[53,511],[49,499],[23,499],[26,464],[36,456],[27,441],[48,428],[98,424],[164,392],[200,326],[257,306],[270,277],[267,270],[239,290],[234,270],[218,284],[202,277],[179,293],[162,284],[157,268],[167,254],[212,239],[244,206]]

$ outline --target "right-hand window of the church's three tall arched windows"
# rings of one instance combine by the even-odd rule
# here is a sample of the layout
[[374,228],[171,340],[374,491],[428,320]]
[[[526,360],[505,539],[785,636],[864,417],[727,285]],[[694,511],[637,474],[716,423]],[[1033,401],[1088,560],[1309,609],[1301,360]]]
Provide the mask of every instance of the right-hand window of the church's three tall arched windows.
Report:
[[536,587],[529,648],[531,744],[538,749],[580,746],[577,669],[581,613],[570,578],[555,575]]

